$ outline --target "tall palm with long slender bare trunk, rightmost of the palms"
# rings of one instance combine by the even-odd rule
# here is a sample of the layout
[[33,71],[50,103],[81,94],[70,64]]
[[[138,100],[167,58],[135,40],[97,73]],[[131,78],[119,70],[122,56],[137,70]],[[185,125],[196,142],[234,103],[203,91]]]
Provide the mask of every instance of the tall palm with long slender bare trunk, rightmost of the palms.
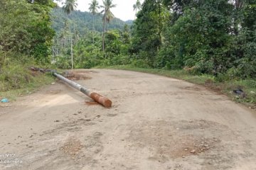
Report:
[[105,31],[106,31],[106,23],[110,23],[112,18],[114,18],[114,14],[110,11],[110,8],[116,7],[116,4],[113,4],[112,0],[103,0],[103,6],[100,6],[104,8],[104,10],[101,12],[103,13],[103,34],[102,34],[102,50],[105,50]]

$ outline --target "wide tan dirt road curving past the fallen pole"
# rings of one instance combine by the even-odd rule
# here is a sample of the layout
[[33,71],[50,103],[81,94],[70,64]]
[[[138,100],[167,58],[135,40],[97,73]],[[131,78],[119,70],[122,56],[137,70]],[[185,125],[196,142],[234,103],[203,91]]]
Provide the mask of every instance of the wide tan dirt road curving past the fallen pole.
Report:
[[256,114],[227,97],[152,74],[79,72],[113,107],[61,82],[1,103],[0,169],[256,169]]

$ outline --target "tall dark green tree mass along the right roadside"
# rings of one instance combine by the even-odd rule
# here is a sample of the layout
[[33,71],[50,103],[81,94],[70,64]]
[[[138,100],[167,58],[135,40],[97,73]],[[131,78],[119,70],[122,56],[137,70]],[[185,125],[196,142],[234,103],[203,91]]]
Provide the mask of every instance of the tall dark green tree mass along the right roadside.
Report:
[[146,0],[137,17],[132,52],[149,65],[256,77],[255,0]]

